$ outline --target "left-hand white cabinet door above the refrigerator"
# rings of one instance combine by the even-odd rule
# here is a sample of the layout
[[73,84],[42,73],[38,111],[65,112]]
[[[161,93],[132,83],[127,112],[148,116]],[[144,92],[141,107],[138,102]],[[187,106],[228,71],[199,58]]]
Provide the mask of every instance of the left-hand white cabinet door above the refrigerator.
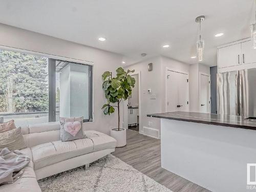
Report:
[[241,44],[218,49],[218,68],[241,65]]

